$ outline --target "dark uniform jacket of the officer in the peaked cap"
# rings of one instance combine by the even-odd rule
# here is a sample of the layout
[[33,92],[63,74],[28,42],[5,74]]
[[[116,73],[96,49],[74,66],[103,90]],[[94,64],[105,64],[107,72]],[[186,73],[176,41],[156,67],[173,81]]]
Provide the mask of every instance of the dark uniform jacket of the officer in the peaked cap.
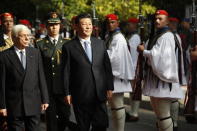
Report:
[[43,59],[49,95],[63,94],[63,82],[61,78],[60,65],[62,46],[66,41],[66,39],[59,36],[57,43],[53,44],[49,36],[46,36],[36,42],[36,48],[40,49]]

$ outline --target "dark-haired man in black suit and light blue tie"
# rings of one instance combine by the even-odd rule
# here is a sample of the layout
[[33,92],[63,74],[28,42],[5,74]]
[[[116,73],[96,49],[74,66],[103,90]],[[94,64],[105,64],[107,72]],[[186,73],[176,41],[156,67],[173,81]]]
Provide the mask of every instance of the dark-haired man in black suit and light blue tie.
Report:
[[[89,14],[76,18],[78,36],[62,47],[65,101],[73,104],[78,131],[106,131],[106,100],[113,90],[110,60],[102,40],[91,37]],[[72,101],[71,101],[72,97]]]

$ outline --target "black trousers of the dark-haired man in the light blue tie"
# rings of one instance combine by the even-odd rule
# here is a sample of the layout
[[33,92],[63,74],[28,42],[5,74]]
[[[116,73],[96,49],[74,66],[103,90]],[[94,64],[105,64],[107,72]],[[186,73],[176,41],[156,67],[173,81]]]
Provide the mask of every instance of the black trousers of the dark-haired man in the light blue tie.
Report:
[[92,104],[73,104],[75,117],[78,124],[78,131],[106,131],[108,113],[106,103],[95,102]]

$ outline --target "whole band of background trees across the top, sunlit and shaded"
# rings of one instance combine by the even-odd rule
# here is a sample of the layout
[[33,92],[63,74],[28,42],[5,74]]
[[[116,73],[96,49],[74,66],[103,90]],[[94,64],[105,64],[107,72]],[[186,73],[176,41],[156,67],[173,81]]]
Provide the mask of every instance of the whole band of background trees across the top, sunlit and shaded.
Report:
[[[192,0],[142,0],[142,14],[152,14],[157,9],[166,9],[172,16],[184,17],[185,5]],[[106,14],[116,13],[121,20],[137,17],[139,0],[1,0],[0,13],[12,12],[17,19],[44,18],[55,10],[67,19],[81,12],[92,13],[92,3],[95,3],[97,17],[103,19]]]

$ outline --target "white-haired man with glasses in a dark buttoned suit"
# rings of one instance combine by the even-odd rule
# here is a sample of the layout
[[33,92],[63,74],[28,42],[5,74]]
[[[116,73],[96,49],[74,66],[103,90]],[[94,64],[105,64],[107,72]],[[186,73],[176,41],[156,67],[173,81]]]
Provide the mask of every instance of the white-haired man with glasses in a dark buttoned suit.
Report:
[[29,36],[26,26],[14,26],[14,46],[0,53],[0,115],[7,116],[8,131],[39,131],[49,103],[42,58],[28,47]]

